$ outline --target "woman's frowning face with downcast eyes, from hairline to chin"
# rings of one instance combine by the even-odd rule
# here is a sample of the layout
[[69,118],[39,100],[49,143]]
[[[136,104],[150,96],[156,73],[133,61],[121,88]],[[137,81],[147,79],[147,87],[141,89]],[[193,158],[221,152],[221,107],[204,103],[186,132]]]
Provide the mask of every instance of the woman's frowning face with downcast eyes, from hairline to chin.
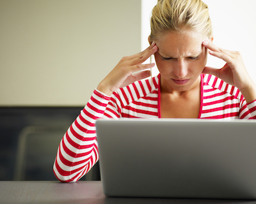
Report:
[[207,62],[205,39],[195,31],[168,31],[156,41],[156,64],[161,73],[161,87],[169,91],[188,91],[200,83]]

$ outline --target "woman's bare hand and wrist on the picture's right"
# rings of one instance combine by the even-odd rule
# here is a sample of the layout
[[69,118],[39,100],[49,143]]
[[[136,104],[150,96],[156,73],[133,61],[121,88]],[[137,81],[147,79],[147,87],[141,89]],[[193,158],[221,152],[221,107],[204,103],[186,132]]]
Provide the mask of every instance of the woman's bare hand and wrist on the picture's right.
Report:
[[205,67],[203,73],[214,75],[227,84],[234,85],[241,91],[247,103],[256,100],[256,85],[248,74],[240,52],[224,50],[214,45],[209,39],[203,42],[205,48],[209,49],[209,54],[223,59],[227,62],[221,69]]

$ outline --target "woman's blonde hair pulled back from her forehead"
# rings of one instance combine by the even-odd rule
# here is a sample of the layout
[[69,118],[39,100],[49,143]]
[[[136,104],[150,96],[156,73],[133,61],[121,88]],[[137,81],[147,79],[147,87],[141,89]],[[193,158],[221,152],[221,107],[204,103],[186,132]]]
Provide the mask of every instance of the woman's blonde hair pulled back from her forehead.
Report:
[[158,0],[150,21],[150,44],[166,31],[193,29],[211,38],[212,26],[207,4],[201,0]]

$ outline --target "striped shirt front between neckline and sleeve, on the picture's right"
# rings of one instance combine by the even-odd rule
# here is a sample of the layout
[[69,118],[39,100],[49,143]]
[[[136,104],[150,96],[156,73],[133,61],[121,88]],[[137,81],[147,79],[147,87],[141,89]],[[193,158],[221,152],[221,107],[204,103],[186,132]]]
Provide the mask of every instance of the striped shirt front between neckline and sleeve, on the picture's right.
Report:
[[204,119],[248,119],[250,111],[241,92],[212,75],[202,75],[202,112]]

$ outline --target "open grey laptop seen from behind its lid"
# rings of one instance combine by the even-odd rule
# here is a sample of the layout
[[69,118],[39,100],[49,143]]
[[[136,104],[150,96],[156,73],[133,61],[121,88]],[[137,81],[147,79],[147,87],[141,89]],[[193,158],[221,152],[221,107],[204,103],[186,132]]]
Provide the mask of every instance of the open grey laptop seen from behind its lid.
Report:
[[103,192],[256,199],[255,120],[100,119]]

